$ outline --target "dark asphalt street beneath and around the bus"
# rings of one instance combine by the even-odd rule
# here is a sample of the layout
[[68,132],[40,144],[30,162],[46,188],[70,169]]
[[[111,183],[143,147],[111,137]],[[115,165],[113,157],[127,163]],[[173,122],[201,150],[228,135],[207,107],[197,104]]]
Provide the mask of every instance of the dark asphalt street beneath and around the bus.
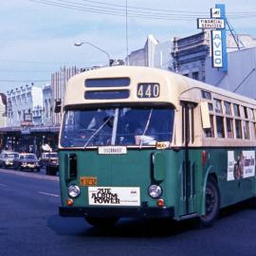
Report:
[[113,229],[58,215],[57,176],[0,170],[0,256],[256,255],[256,209],[222,210],[210,229],[194,221],[122,219]]

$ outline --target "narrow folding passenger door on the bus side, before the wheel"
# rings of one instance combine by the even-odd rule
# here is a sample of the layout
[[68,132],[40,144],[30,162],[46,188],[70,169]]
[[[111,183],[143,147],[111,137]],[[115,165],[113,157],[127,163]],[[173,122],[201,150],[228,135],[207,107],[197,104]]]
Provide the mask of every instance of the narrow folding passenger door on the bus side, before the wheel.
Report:
[[190,145],[194,142],[194,102],[182,101],[182,143],[184,145],[181,181],[180,215],[190,215],[196,212],[195,171],[198,150]]

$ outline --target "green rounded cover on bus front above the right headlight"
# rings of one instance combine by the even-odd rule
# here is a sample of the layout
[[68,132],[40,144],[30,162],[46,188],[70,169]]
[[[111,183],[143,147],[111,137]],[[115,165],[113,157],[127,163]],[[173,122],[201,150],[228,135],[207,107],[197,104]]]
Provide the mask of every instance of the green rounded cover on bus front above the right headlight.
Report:
[[153,155],[154,179],[163,181],[165,179],[166,157],[162,152],[156,152]]

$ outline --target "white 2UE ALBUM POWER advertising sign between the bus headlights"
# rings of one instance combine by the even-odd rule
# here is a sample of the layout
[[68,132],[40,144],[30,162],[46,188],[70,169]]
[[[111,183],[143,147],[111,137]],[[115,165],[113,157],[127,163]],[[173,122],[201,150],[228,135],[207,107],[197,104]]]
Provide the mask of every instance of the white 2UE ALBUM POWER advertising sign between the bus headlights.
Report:
[[88,187],[91,206],[140,206],[139,188]]

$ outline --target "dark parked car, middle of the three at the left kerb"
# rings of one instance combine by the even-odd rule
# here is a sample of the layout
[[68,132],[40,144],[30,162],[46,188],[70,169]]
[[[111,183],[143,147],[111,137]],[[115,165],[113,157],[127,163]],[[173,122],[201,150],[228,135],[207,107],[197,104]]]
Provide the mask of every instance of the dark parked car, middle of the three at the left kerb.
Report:
[[21,153],[19,157],[13,160],[13,168],[15,170],[40,171],[40,164],[36,155],[31,153]]

